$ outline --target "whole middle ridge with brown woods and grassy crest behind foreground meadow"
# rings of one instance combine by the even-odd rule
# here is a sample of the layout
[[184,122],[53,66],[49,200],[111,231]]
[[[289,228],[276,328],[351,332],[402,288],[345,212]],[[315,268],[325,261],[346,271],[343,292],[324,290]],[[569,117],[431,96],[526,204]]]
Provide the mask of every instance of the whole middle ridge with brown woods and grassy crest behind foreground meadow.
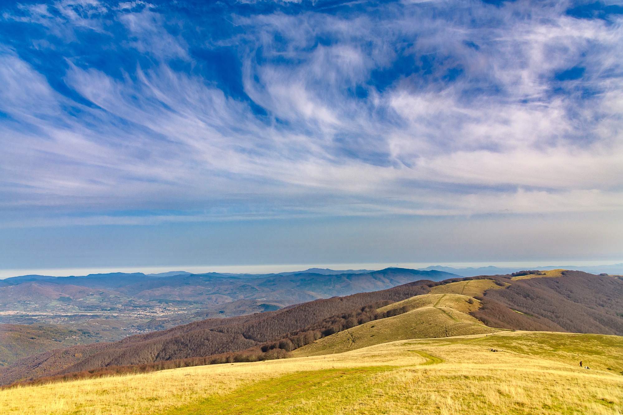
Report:
[[[523,297],[528,289],[532,291]],[[581,295],[571,295],[579,289],[584,290]],[[622,289],[621,279],[567,271],[530,279],[498,275],[444,282],[423,280],[273,312],[203,320],[115,343],[42,353],[0,370],[0,379],[2,383],[11,383],[39,376],[118,373],[139,366],[141,371],[150,371],[265,360],[283,357],[291,351],[293,355],[340,353],[407,338],[525,330],[535,326],[546,331],[609,334],[619,327],[619,322],[611,317],[621,318],[617,313],[623,314],[621,303],[613,297]],[[573,308],[575,320],[549,315],[544,301]],[[586,321],[591,318],[600,318],[602,325],[586,328]],[[569,324],[561,328],[556,320]]]

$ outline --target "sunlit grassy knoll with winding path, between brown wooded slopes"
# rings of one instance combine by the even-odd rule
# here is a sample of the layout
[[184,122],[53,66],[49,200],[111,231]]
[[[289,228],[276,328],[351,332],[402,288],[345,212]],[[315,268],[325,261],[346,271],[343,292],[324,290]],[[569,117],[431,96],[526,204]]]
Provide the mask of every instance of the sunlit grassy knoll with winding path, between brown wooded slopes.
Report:
[[[460,284],[460,283],[454,283]],[[449,284],[450,285],[450,284]],[[379,308],[409,307],[411,311],[364,323],[340,333],[321,338],[293,351],[294,356],[316,356],[343,353],[362,347],[394,340],[437,338],[498,332],[468,313],[480,307],[480,302],[459,294],[426,294],[407,298]]]

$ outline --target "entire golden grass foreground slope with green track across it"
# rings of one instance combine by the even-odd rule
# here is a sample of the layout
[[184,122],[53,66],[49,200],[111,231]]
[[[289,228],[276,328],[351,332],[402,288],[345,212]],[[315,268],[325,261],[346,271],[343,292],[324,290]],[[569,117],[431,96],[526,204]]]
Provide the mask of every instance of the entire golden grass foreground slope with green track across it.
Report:
[[619,414],[622,371],[619,336],[502,332],[5,389],[0,413]]

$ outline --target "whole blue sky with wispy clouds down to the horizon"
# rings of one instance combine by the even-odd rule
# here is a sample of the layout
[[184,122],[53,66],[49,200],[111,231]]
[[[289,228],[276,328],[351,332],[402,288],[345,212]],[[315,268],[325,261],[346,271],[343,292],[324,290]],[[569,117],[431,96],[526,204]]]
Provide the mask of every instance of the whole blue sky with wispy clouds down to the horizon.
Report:
[[592,0],[3,1],[0,272],[622,262],[622,24]]

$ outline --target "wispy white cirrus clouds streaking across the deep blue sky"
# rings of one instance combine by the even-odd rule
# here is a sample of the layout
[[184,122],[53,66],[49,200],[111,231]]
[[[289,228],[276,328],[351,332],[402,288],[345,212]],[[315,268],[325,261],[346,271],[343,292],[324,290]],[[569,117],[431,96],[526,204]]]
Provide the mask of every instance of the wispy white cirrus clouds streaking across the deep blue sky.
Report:
[[623,207],[618,9],[205,7],[5,9],[6,211],[157,209],[160,221]]

